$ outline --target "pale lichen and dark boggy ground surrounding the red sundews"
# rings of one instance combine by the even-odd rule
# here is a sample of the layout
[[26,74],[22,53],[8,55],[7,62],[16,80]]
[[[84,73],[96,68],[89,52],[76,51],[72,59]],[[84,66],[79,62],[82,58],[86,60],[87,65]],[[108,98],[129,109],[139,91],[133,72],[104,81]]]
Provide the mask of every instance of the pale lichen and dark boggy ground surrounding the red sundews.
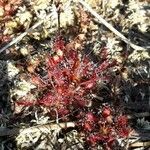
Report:
[[[33,103],[45,92],[40,90],[39,80],[38,84],[31,81],[31,75],[36,72],[43,76],[45,57],[52,53],[55,39],[60,35],[67,49],[88,55],[95,64],[101,63],[104,55],[109,60],[117,61],[117,66],[107,73],[111,75],[110,82],[97,83],[98,90],[91,99],[99,101],[92,108],[84,110],[96,111],[98,106],[102,112],[103,106],[108,105],[116,116],[118,113],[128,117],[134,135],[124,140],[118,137],[113,149],[148,149],[150,146],[150,2],[85,2],[143,50],[130,47],[130,44],[106,28],[78,1],[0,0],[0,47],[3,48],[18,35],[26,33],[3,52],[0,50],[0,149],[87,149],[84,132],[72,124],[76,115],[74,109],[71,108],[71,117],[62,119],[57,114],[57,109],[56,115],[54,111],[51,115],[53,108],[28,106],[29,102]],[[42,19],[41,25],[31,29]],[[88,98],[90,96],[87,95]],[[24,104],[17,105],[22,100]],[[97,115],[97,112],[94,114]],[[66,122],[68,127],[63,124]],[[57,126],[59,123],[63,125]],[[11,133],[12,130],[8,128],[18,130],[14,135],[15,130]],[[26,131],[23,132],[22,129]],[[19,133],[19,130],[24,134]],[[135,145],[131,144],[136,140]],[[142,145],[143,142],[145,146]],[[88,148],[106,149],[104,143],[105,141]]]

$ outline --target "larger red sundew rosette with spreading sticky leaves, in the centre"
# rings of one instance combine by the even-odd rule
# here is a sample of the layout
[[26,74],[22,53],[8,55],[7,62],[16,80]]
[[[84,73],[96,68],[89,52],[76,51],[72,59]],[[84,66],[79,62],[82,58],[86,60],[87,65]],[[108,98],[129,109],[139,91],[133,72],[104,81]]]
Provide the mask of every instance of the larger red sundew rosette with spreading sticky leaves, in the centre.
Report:
[[39,89],[47,89],[37,104],[54,107],[58,113],[61,112],[60,115],[66,115],[64,113],[69,113],[71,108],[86,107],[89,102],[87,95],[103,78],[101,74],[115,64],[115,61],[106,60],[95,65],[87,56],[67,49],[63,40],[56,39],[51,54],[46,57],[47,76],[31,76],[32,83]]

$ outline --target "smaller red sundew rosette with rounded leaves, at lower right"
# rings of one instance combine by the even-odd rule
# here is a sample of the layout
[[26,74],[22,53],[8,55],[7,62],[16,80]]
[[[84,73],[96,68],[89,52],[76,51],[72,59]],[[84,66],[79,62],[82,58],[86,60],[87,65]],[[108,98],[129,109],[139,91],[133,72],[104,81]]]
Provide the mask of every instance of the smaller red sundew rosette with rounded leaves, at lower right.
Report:
[[106,150],[113,149],[117,138],[129,136],[130,128],[126,116],[114,116],[110,107],[104,106],[100,114],[80,113],[80,127],[86,132],[86,142],[96,146],[101,143]]

